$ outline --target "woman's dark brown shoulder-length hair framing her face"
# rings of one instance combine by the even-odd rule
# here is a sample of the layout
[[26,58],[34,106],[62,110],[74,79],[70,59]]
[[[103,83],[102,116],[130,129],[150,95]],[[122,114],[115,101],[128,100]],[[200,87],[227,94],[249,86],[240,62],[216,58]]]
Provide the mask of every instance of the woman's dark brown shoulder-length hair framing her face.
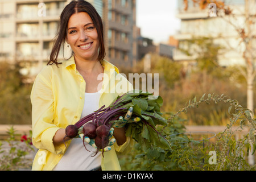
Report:
[[56,65],[61,64],[57,61],[60,48],[64,46],[65,39],[67,38],[67,27],[68,20],[71,15],[75,13],[85,12],[88,13],[90,18],[92,19],[94,26],[96,27],[98,34],[98,42],[100,44],[100,51],[98,53],[98,61],[103,60],[106,52],[104,47],[104,30],[101,16],[97,13],[96,9],[89,3],[84,0],[71,1],[67,6],[65,6],[64,10],[60,15],[59,27],[56,35],[56,40],[53,44],[53,48],[51,51],[51,55],[49,56],[48,64],[55,63]]

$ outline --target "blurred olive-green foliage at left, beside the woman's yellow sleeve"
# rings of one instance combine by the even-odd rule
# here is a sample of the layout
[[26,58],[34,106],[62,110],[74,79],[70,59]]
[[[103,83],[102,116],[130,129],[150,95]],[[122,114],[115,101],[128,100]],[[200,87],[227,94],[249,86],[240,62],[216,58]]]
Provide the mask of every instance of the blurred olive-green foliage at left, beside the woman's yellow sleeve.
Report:
[[0,124],[31,124],[31,84],[24,84],[18,64],[0,67]]

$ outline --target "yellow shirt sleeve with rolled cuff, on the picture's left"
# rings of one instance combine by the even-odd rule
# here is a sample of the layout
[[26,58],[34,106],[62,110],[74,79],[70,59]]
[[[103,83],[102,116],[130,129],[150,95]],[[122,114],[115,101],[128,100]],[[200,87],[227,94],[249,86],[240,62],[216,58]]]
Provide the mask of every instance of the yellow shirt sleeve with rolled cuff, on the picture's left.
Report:
[[53,145],[53,137],[60,127],[53,124],[54,99],[51,74],[39,73],[31,90],[32,104],[32,142],[36,148],[48,150],[53,154],[63,154],[64,144]]

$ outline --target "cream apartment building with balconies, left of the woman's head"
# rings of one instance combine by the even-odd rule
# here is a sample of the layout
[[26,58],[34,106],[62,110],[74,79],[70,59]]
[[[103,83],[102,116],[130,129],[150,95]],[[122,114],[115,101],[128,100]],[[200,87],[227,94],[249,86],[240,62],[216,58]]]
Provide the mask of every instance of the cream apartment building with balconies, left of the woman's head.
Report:
[[48,60],[64,0],[2,0],[0,60],[18,62],[36,75]]

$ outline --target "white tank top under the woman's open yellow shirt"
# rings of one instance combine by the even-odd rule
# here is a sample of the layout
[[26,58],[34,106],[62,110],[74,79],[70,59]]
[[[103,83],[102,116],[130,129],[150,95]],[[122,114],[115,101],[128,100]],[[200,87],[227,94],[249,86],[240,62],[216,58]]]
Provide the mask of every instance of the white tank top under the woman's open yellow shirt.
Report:
[[[81,118],[99,109],[100,92],[85,93],[84,109]],[[82,139],[73,138],[67,151],[53,171],[90,171],[101,166],[101,152],[96,156],[96,149],[85,143],[87,151],[82,144]],[[93,156],[93,157],[92,157]]]

